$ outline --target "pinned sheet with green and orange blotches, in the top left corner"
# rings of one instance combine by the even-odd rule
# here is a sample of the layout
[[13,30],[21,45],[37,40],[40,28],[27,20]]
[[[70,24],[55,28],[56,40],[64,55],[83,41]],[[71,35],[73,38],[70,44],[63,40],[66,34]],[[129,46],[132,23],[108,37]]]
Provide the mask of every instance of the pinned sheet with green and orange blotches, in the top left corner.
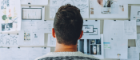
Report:
[[0,5],[0,32],[20,31],[20,0],[0,0]]

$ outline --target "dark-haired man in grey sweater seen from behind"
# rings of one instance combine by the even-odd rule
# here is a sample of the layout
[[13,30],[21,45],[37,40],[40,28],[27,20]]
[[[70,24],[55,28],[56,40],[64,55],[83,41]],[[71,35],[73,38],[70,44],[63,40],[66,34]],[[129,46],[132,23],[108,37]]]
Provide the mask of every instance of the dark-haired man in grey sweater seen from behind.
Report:
[[77,41],[83,35],[82,26],[83,19],[77,7],[70,4],[61,6],[55,15],[52,29],[52,35],[57,40],[55,52],[36,60],[99,60],[77,52]]

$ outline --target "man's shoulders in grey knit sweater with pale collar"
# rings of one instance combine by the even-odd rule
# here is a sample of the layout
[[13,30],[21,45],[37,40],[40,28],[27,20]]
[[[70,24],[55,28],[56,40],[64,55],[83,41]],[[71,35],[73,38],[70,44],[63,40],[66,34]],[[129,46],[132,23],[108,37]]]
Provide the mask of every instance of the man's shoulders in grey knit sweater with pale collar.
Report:
[[91,55],[81,52],[51,52],[36,60],[99,60]]

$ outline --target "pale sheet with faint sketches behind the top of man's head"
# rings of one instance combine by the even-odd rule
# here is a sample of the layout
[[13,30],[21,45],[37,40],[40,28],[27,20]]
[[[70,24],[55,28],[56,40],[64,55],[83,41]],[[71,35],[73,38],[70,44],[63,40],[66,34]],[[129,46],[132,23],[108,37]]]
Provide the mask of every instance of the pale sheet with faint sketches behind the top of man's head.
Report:
[[54,18],[58,8],[65,4],[71,4],[80,9],[83,18],[89,18],[88,0],[50,0],[50,18]]

